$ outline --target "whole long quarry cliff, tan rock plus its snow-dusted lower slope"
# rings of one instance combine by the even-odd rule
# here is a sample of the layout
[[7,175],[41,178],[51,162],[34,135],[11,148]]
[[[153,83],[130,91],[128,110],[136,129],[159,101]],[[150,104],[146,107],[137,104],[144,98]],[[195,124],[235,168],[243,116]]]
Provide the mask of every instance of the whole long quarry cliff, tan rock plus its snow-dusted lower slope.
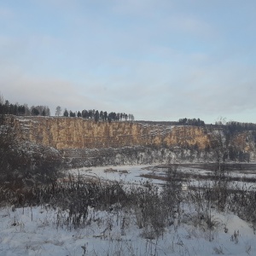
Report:
[[[9,117],[21,141],[59,150],[67,166],[148,164],[172,161],[214,161],[217,150],[234,160],[255,159],[250,131],[230,138],[230,145],[211,148],[212,127],[155,125],[137,122],[95,122],[65,117]],[[222,128],[217,134],[223,137]],[[231,154],[229,154],[231,156]],[[229,157],[228,156],[228,157]],[[230,158],[231,159],[231,158]]]

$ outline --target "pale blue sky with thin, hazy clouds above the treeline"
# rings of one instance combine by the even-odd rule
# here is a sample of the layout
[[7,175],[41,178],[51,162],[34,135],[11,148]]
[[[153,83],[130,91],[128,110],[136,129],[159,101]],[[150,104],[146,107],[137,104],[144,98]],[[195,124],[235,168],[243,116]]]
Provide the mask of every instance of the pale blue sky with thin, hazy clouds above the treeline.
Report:
[[256,123],[255,0],[0,0],[9,102]]

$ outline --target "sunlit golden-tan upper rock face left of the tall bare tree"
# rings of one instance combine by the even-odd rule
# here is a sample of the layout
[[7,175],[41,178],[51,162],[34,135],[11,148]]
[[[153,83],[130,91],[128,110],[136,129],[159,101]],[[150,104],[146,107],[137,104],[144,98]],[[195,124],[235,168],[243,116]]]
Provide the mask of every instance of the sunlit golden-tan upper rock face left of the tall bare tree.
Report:
[[209,137],[195,126],[141,125],[95,122],[64,117],[15,117],[20,137],[57,149],[120,148],[125,146],[183,146],[205,148]]

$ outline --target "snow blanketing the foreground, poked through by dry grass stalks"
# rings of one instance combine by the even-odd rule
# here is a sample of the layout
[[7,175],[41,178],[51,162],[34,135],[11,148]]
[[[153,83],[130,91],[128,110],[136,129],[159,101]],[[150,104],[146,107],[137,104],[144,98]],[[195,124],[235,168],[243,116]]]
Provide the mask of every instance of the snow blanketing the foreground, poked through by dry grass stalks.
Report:
[[[177,230],[166,228],[158,239],[145,239],[137,228],[135,218],[125,212],[93,212],[90,209],[83,229],[69,230],[55,224],[58,210],[44,207],[26,207],[12,212],[9,207],[0,211],[0,255],[255,255],[255,235],[249,225],[233,214],[212,213],[218,222],[209,241],[208,231],[189,224]],[[127,219],[125,234],[121,233],[120,220]],[[129,221],[128,221],[129,219]],[[89,223],[89,221],[88,221]],[[112,229],[108,229],[108,224]],[[14,225],[15,224],[15,225]],[[228,229],[224,233],[224,227]],[[105,230],[105,232],[103,232]],[[231,236],[239,230],[238,243]],[[104,236],[105,235],[105,236]],[[122,236],[124,235],[124,236]],[[251,247],[249,254],[246,252]],[[134,254],[129,254],[133,252]],[[156,252],[156,254],[154,254]],[[118,254],[116,254],[118,255]]]

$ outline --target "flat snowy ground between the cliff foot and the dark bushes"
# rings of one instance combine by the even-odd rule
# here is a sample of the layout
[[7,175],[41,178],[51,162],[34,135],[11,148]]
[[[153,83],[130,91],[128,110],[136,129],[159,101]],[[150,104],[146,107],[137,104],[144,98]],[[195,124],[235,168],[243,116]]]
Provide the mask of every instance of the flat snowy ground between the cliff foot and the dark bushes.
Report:
[[[204,169],[199,169],[196,167],[183,167],[179,166],[177,168],[177,172],[182,172],[183,174],[188,174],[191,177],[188,182],[186,182],[186,186],[203,186],[205,183],[211,184],[212,181],[207,179],[208,175],[214,175],[214,172]],[[90,168],[79,168],[79,169],[70,169],[67,173],[73,174],[75,177],[95,177],[101,180],[110,180],[110,181],[119,181],[122,183],[145,183],[150,181],[154,184],[162,184],[165,183],[164,180],[160,180],[157,177],[164,177],[166,172],[164,168],[158,167],[158,165],[142,165],[142,166],[97,166]],[[150,178],[143,177],[143,175],[150,175]],[[154,179],[154,175],[156,178]],[[197,178],[201,176],[200,180]],[[243,182],[242,178],[256,178],[256,173],[247,173],[234,171],[229,172],[229,177],[239,177],[241,181],[231,181],[229,184],[233,188],[247,188],[247,189],[256,189],[255,182]],[[202,177],[205,177],[202,178]]]

